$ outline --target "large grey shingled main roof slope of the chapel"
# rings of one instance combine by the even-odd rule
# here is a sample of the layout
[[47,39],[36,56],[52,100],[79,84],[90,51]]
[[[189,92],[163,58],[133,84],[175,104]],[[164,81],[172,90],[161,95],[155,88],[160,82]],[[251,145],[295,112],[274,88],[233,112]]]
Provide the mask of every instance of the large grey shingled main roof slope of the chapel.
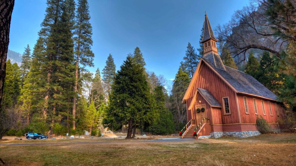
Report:
[[216,67],[213,58],[202,57],[202,59],[210,64],[224,79],[226,79],[227,82],[237,89],[238,92],[249,93],[277,100],[277,96],[273,92],[249,74],[225,65],[224,67],[226,70]]

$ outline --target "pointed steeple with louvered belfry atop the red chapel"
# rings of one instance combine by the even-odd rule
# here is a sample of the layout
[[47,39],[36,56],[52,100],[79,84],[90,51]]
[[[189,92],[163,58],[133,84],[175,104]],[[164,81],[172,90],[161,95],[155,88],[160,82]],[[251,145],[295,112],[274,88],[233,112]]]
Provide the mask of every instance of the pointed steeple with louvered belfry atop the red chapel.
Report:
[[204,55],[209,52],[218,53],[216,42],[218,40],[215,38],[214,32],[210,25],[210,21],[207,18],[207,14],[205,14],[205,23],[203,29],[203,36],[200,43],[204,45]]

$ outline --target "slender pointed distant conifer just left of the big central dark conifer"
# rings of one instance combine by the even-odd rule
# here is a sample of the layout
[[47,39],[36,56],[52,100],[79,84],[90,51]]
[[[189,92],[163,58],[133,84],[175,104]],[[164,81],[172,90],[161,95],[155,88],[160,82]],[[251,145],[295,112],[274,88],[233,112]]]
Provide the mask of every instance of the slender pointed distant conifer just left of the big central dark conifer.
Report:
[[113,83],[114,77],[115,77],[115,64],[114,64],[114,59],[112,58],[112,55],[109,54],[107,61],[106,61],[106,66],[103,69],[103,82],[104,85],[106,86],[106,91],[108,96],[110,95],[111,92],[111,85]]

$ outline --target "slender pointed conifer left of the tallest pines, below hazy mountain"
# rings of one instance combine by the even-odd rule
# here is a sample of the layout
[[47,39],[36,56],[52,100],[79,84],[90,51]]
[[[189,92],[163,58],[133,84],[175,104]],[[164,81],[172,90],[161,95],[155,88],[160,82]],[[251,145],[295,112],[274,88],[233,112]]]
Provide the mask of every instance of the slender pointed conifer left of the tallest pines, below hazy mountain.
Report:
[[22,71],[22,83],[25,81],[26,77],[28,76],[28,71],[30,70],[31,66],[31,49],[30,46],[27,45],[25,48],[25,52],[22,54],[22,63],[21,63],[21,71]]

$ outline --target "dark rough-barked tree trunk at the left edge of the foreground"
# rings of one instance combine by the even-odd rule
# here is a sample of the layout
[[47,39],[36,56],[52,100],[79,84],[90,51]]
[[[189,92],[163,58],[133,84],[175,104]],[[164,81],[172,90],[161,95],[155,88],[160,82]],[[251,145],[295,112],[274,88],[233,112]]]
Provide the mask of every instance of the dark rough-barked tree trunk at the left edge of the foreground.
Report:
[[6,58],[9,45],[10,21],[14,5],[15,0],[0,1],[0,108],[6,74]]

